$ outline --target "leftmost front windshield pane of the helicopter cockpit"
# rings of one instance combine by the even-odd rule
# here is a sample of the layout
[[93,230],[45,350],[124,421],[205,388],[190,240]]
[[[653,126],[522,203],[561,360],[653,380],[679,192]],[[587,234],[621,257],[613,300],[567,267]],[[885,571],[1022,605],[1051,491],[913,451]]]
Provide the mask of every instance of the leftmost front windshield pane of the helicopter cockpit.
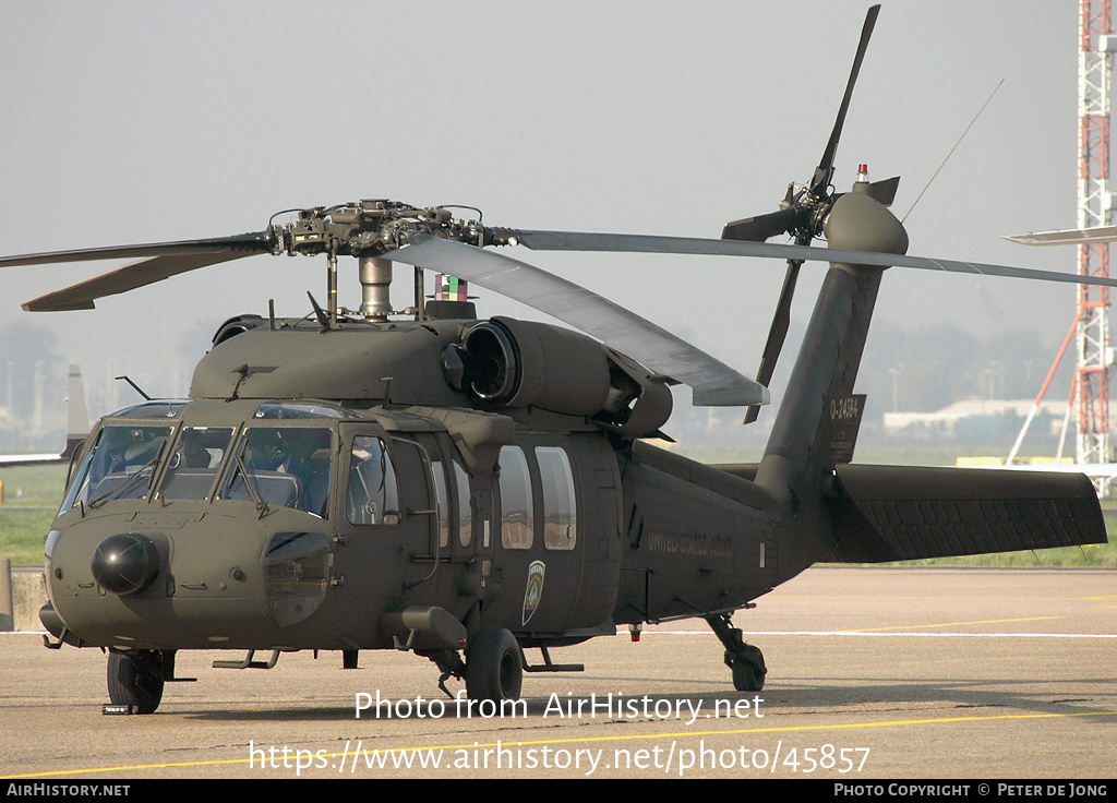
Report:
[[63,508],[79,501],[96,507],[112,499],[146,499],[171,431],[171,427],[105,427],[82,462]]

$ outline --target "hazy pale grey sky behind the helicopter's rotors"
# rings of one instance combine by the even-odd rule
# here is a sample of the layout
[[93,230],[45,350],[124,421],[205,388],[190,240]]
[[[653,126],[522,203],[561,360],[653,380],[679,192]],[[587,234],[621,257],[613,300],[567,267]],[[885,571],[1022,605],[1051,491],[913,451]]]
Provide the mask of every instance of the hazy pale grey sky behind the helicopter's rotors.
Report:
[[[834,184],[861,162],[873,179],[899,174],[904,217],[1003,79],[908,218],[909,254],[1073,271],[1073,249],[1001,236],[1076,226],[1078,4],[882,6]],[[810,179],[867,9],[0,0],[0,254],[256,231],[279,210],[364,198],[469,204],[494,226],[717,237]],[[746,374],[784,273],[774,260],[516,256]],[[266,314],[269,298],[277,314],[302,316],[307,289],[325,295],[324,258],[265,256],[95,310],[20,309],[117,265],[0,271],[0,328],[55,332],[63,359],[83,366],[93,414],[135,399],[112,376],[184,394],[222,321]],[[810,314],[823,270],[805,269],[794,319]],[[403,307],[410,277],[403,266],[397,277]],[[359,306],[355,260],[343,260],[338,283],[341,304]],[[540,317],[475,293],[483,316]],[[897,268],[876,315],[983,337],[1034,328],[1058,344],[1073,308],[1070,286]]]

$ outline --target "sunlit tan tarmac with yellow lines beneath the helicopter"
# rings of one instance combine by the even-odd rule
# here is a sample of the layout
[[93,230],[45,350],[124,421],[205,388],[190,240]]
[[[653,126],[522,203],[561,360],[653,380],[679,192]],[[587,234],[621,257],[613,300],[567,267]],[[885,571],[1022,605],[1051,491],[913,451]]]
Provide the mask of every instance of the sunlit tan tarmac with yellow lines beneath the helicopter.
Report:
[[401,652],[362,652],[356,670],[285,654],[270,671],[181,653],[198,682],[109,716],[98,650],[0,634],[0,776],[1115,775],[1117,572],[815,567],[734,622],[764,651],[758,694],[734,691],[690,620],[554,650],[585,671],[526,675],[525,705],[498,716]]

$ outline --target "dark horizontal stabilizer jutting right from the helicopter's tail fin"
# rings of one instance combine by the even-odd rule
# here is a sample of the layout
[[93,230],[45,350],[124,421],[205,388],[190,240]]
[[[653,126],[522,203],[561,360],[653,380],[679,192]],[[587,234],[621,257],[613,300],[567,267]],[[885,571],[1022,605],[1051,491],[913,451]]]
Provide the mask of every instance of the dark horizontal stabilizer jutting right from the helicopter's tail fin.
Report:
[[1105,544],[1083,475],[839,465],[830,563],[885,563]]

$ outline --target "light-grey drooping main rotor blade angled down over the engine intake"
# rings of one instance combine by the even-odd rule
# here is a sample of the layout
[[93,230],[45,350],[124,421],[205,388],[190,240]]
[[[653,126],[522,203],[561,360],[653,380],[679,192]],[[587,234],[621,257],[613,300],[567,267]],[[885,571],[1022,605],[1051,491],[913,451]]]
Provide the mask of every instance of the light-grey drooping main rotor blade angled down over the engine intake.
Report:
[[527,262],[440,238],[383,256],[458,276],[564,321],[646,367],[690,385],[696,405],[768,403],[766,388],[728,365],[608,298]]

